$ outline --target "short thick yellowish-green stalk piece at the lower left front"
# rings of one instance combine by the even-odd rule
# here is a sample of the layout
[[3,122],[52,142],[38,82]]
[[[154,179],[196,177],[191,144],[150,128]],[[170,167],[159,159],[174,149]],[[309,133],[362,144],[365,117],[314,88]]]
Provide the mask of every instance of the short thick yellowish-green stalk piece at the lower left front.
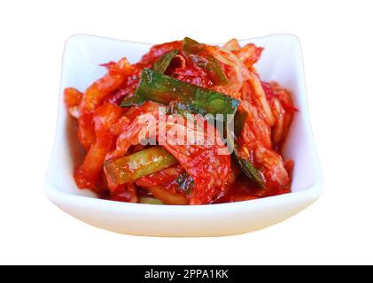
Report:
[[127,184],[175,164],[177,160],[173,155],[155,146],[107,162],[105,172],[115,183]]

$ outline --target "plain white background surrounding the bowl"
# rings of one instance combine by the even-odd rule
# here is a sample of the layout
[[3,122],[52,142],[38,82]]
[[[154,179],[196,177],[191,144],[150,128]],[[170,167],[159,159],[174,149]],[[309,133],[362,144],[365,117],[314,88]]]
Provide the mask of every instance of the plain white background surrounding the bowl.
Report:
[[[373,264],[371,1],[1,1],[0,264]],[[201,42],[297,34],[325,191],[268,229],[146,238],[82,224],[43,195],[71,34]]]

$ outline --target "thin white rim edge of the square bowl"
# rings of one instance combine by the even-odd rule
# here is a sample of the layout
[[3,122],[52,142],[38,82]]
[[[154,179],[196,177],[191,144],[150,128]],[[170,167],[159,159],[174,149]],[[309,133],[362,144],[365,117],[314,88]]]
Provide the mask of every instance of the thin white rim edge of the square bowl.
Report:
[[[284,195],[273,195],[248,201],[242,201],[242,202],[236,202],[236,203],[215,203],[215,204],[204,204],[204,205],[153,205],[153,204],[147,204],[147,203],[124,203],[124,202],[116,202],[106,199],[101,199],[98,197],[91,197],[86,195],[74,195],[67,192],[64,192],[61,189],[58,189],[58,185],[53,184],[53,182],[50,180],[51,176],[51,167],[52,163],[54,161],[54,155],[56,151],[56,144],[58,142],[58,138],[61,138],[60,136],[60,128],[65,125],[66,121],[63,121],[61,111],[65,111],[65,107],[63,105],[61,96],[62,96],[62,77],[64,72],[64,59],[61,61],[61,73],[60,73],[60,84],[59,84],[59,95],[58,95],[58,119],[56,122],[56,130],[55,130],[55,136],[53,140],[53,146],[51,150],[51,156],[49,159],[49,164],[47,167],[46,177],[44,181],[44,194],[51,200],[52,203],[60,203],[60,202],[84,202],[87,205],[98,205],[101,207],[107,207],[110,206],[112,208],[116,209],[128,209],[128,210],[138,210],[138,208],[143,208],[146,210],[153,209],[153,210],[159,210],[159,211],[173,211],[175,213],[183,213],[185,211],[190,210],[200,210],[200,211],[216,211],[216,210],[240,210],[240,209],[250,209],[254,207],[258,207],[261,205],[270,206],[274,203],[292,203],[295,200],[299,199],[311,199],[313,201],[317,200],[321,195],[323,191],[323,177],[322,177],[322,166],[320,164],[320,158],[317,154],[317,149],[315,147],[315,137],[314,132],[312,129],[311,121],[310,121],[310,115],[309,115],[309,105],[307,102],[307,86],[304,79],[304,65],[303,65],[303,56],[302,56],[302,50],[301,50],[301,44],[299,41],[299,37],[296,34],[268,34],[263,36],[257,36],[253,38],[245,38],[245,39],[238,39],[238,42],[242,41],[254,41],[254,40],[260,40],[260,39],[266,39],[269,37],[288,37],[292,41],[294,41],[296,44],[299,45],[299,60],[300,60],[300,70],[298,70],[299,78],[301,80],[301,85],[304,88],[302,91],[301,96],[304,96],[304,110],[306,111],[305,114],[305,126],[307,126],[307,132],[309,132],[309,142],[310,147],[312,149],[311,155],[314,157],[314,166],[315,166],[315,179],[312,184],[308,185],[307,187],[304,187],[301,191],[291,191],[291,193],[284,194]],[[105,36],[99,36],[99,35],[92,35],[92,34],[72,34],[70,35],[64,44],[64,50],[63,55],[66,54],[66,45],[74,41],[76,39],[82,39],[82,38],[90,38],[90,39],[96,39],[96,40],[102,40],[102,41],[115,41],[115,42],[127,42],[129,44],[144,44],[144,45],[152,45],[154,43],[151,42],[135,42],[135,41],[128,41],[128,40],[122,40],[122,39],[116,39],[111,37],[105,37]],[[211,43],[211,44],[221,44],[220,43]],[[64,57],[63,56],[63,57]],[[250,205],[248,205],[250,203]],[[142,211],[142,210],[138,210]]]

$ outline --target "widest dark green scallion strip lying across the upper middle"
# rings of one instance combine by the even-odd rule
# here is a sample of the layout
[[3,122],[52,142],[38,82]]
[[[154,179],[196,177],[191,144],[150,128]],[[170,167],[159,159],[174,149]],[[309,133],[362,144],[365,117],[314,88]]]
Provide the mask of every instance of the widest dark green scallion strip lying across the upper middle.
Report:
[[[192,113],[206,114],[234,114],[239,104],[237,99],[220,92],[199,88],[198,86],[176,80],[163,73],[144,69],[135,96],[124,99],[121,106],[133,103],[141,104],[152,100],[159,103],[181,101],[187,105]],[[226,119],[226,115],[224,115]]]

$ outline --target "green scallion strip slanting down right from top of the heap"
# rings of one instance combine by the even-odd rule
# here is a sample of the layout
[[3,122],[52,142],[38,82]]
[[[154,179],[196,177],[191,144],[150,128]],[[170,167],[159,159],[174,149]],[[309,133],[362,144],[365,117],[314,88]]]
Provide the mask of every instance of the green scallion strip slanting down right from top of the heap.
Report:
[[214,56],[208,54],[204,44],[185,37],[183,40],[183,51],[190,57],[194,64],[209,74],[215,84],[225,86],[229,83],[221,65]]

